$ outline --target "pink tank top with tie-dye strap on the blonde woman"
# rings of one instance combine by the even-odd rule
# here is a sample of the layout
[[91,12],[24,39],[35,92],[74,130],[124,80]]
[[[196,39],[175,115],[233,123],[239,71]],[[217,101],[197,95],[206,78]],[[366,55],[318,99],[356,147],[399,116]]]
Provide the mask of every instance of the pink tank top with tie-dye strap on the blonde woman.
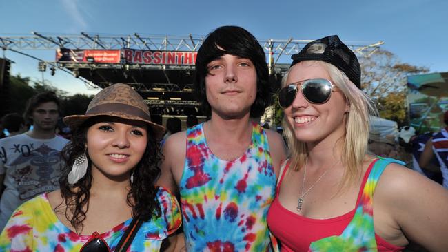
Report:
[[[365,198],[369,198],[365,195],[370,194],[369,192],[366,193],[366,183],[369,184],[367,191],[371,191],[371,195],[373,195],[373,190],[369,188],[374,189],[385,166],[390,162],[395,162],[395,160],[391,159],[381,158],[379,160],[382,161],[379,170],[376,169],[376,171],[371,172],[377,161],[375,160],[369,165],[365,173],[355,209],[342,216],[329,219],[306,218],[285,209],[281,205],[278,200],[278,188],[280,188],[285,172],[289,168],[288,163],[283,174],[281,174],[274,202],[272,202],[267,214],[267,224],[272,234],[280,241],[281,251],[347,251],[347,249],[351,249],[350,251],[354,251],[354,249],[356,251],[358,249],[363,251],[376,251],[376,249],[378,251],[402,251],[405,249],[404,247],[389,244],[376,235],[373,230],[373,212],[363,213],[363,207],[366,209],[365,206],[371,204],[371,200],[365,200]],[[371,184],[374,184],[374,186],[371,187]],[[371,209],[371,206],[367,207],[367,209]],[[352,229],[358,229],[358,231],[353,232]],[[365,232],[366,229],[372,230]],[[352,235],[355,236],[359,233],[363,233],[361,236],[367,234],[367,236],[371,237],[360,239],[352,237]],[[358,242],[358,240],[355,242],[349,241],[352,238],[353,240],[362,240],[362,242]]]

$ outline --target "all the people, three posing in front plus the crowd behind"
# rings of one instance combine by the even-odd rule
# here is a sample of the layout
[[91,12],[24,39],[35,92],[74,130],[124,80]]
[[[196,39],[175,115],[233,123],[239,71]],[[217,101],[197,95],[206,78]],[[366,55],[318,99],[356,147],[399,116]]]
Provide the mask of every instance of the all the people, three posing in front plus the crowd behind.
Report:
[[[292,56],[277,92],[283,127],[258,122],[274,90],[250,32],[217,28],[195,67],[208,120],[188,116],[184,131],[179,118],[154,123],[121,83],[60,127],[52,92],[4,116],[0,251],[448,250],[447,129],[420,151],[414,128],[400,131],[419,172],[393,159],[338,36]],[[429,174],[440,171],[443,182]]]

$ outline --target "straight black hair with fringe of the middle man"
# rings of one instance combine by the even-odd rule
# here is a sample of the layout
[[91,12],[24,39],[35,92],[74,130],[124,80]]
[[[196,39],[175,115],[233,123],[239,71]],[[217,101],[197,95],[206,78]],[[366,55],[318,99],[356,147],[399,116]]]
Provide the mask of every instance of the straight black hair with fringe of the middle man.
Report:
[[269,85],[269,71],[266,56],[260,43],[247,30],[238,26],[221,26],[207,35],[196,58],[196,75],[194,91],[196,98],[202,103],[206,116],[210,116],[211,107],[207,101],[205,76],[208,74],[207,64],[219,57],[231,54],[250,59],[256,69],[256,98],[250,108],[251,117],[259,117],[265,113],[265,108],[271,103],[274,92]]

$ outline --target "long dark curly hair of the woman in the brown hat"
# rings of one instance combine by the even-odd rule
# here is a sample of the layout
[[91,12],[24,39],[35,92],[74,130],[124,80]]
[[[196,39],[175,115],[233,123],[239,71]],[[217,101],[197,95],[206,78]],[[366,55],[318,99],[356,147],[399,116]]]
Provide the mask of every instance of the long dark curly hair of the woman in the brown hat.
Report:
[[[87,173],[74,185],[68,183],[68,174],[72,169],[74,160],[84,153],[87,143],[87,131],[94,123],[95,120],[90,118],[80,127],[77,127],[72,134],[70,143],[65,145],[62,150],[62,157],[66,165],[63,167],[61,178],[59,179],[59,187],[61,196],[65,200],[65,217],[67,220],[70,220],[70,224],[77,231],[83,229],[83,221],[89,209],[90,188],[92,187],[90,158],[88,158]],[[145,153],[132,171],[134,182],[130,182],[130,191],[126,200],[127,204],[132,207],[132,218],[145,222],[161,216],[160,204],[156,197],[159,189],[155,187],[154,182],[161,174],[161,169],[158,165],[162,157],[159,141],[154,138],[154,131],[148,126]],[[72,213],[71,217],[69,213]]]

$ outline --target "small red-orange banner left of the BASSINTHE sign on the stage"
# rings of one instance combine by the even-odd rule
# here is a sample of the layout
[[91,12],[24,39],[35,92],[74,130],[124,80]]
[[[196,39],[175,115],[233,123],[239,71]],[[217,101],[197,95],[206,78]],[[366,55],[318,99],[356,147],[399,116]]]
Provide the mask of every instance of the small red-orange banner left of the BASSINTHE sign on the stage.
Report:
[[83,50],[59,48],[56,51],[58,62],[79,63],[120,63],[121,50]]

